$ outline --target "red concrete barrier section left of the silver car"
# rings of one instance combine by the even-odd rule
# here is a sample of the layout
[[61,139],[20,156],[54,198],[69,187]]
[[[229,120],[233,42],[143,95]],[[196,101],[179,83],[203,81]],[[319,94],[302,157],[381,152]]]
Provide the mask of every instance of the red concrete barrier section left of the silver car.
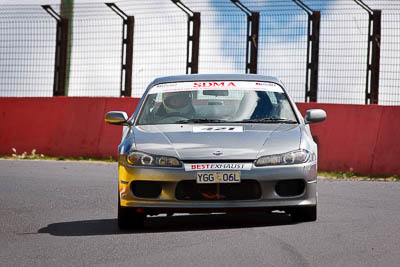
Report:
[[116,157],[121,127],[104,123],[109,110],[130,116],[135,98],[0,98],[0,154]]

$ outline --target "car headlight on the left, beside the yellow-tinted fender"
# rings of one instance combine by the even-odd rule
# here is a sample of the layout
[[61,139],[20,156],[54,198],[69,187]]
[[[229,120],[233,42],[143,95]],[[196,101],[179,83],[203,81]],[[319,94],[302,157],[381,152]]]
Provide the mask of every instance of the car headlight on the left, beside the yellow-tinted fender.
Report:
[[126,161],[136,166],[181,167],[182,163],[174,157],[155,156],[143,152],[130,152]]

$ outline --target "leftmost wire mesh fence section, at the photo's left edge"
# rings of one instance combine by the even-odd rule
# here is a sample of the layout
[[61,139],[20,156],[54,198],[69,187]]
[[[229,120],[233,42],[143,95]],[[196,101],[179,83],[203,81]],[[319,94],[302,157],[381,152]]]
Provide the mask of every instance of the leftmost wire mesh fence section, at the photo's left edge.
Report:
[[55,23],[37,6],[0,13],[0,97],[52,96]]

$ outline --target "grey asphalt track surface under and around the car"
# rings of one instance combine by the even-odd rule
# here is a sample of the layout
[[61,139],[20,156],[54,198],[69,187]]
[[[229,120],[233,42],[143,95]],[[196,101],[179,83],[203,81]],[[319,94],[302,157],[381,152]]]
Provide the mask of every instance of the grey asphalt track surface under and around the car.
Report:
[[150,217],[116,226],[115,163],[0,160],[1,266],[399,266],[400,183],[319,180],[318,220]]

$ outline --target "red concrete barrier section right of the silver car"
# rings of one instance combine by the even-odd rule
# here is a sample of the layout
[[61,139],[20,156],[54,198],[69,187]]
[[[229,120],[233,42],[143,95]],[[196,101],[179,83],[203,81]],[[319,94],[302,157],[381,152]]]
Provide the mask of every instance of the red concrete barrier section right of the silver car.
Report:
[[[312,124],[319,169],[361,174],[400,174],[400,107],[298,103],[324,109],[325,122]],[[396,122],[397,121],[397,122]]]

